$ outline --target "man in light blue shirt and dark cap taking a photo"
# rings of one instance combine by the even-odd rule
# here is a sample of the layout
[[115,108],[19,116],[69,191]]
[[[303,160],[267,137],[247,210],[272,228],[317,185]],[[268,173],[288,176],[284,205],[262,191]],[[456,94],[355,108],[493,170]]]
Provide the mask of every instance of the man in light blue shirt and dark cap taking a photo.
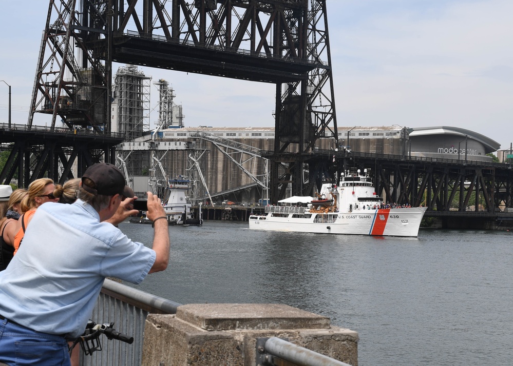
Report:
[[48,202],[37,209],[20,249],[0,272],[0,362],[69,365],[66,340],[84,332],[105,277],[140,283],[166,269],[167,217],[160,199],[147,195],[152,249],[102,222],[125,197],[128,209],[134,199],[113,165],[89,167],[74,204]]

